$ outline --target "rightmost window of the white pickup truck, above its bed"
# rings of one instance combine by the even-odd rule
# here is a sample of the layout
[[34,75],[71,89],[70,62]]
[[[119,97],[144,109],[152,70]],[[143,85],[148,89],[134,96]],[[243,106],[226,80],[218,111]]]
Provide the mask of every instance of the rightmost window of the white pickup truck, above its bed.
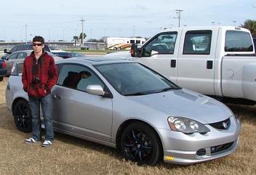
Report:
[[225,52],[252,52],[252,39],[248,32],[227,30],[225,33]]

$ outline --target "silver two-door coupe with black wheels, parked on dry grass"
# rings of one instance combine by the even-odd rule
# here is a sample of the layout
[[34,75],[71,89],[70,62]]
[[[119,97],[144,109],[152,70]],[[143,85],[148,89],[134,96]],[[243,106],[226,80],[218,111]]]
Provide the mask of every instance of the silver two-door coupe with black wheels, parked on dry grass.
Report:
[[[228,107],[137,62],[71,58],[58,61],[57,70],[55,131],[116,147],[127,160],[148,165],[200,163],[238,146],[241,126]],[[82,72],[89,76],[76,78]],[[9,77],[6,101],[17,128],[31,131],[20,76]]]

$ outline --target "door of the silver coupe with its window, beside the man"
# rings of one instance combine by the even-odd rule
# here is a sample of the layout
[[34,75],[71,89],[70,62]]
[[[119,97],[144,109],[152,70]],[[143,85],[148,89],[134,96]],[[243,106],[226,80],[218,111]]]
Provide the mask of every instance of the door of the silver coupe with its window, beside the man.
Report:
[[[81,71],[89,72],[90,76],[80,78],[78,82],[77,76]],[[76,86],[73,86],[75,82]],[[57,85],[52,89],[54,126],[71,133],[110,142],[112,99],[87,93],[85,89],[91,84],[98,84],[103,88],[105,86],[97,74],[86,66],[63,65]]]

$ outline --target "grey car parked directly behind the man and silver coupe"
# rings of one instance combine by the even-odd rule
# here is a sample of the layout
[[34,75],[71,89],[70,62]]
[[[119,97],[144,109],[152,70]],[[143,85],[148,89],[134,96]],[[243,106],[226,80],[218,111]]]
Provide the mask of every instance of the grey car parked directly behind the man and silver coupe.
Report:
[[[12,72],[12,66],[17,64],[23,64],[25,57],[28,57],[30,55],[32,50],[23,50],[23,51],[17,51],[13,52],[12,54],[9,54],[7,57],[5,57],[3,60],[7,63],[7,76],[11,75]],[[55,54],[52,54],[51,52],[47,52],[47,54],[51,55],[55,60],[61,60],[62,57],[57,57]],[[22,69],[20,67],[20,73],[22,73]]]

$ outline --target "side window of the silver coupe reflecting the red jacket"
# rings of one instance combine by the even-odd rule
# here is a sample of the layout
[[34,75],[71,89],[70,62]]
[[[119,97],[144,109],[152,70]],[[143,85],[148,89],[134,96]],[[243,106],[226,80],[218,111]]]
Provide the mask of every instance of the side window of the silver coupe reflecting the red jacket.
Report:
[[88,85],[100,85],[104,89],[104,84],[96,74],[81,65],[63,65],[60,71],[58,84],[71,89],[86,91]]

